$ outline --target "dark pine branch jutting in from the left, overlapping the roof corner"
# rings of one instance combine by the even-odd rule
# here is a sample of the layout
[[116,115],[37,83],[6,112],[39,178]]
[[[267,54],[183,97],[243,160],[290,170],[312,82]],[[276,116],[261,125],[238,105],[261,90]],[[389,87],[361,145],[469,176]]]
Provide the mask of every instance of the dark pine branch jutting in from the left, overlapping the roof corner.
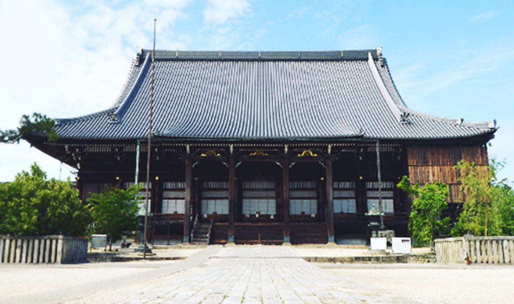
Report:
[[30,134],[48,136],[49,141],[59,139],[59,135],[53,130],[53,127],[56,125],[55,120],[38,113],[32,114],[32,119],[33,121],[30,120],[28,115],[23,115],[20,120],[20,127],[17,130],[0,130],[0,142],[14,144],[14,142],[20,142],[23,136]]

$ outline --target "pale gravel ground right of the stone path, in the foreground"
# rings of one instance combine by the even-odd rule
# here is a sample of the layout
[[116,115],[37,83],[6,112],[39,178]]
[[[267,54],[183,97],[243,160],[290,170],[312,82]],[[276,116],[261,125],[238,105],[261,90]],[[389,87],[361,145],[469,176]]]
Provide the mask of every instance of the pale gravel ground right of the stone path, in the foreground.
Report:
[[[430,303],[514,302],[514,266],[363,265],[319,266],[384,293]],[[328,266],[328,267],[327,267]],[[359,268],[360,267],[360,268]],[[445,267],[445,268],[440,268]]]

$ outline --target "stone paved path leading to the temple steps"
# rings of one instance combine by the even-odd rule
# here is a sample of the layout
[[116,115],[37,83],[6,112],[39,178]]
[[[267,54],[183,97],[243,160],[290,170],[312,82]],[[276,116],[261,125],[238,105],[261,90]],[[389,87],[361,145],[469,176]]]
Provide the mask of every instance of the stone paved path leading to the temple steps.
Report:
[[[222,249],[205,267],[164,279],[118,304],[420,303],[366,287],[309,264],[286,246]],[[429,303],[426,301],[425,303]],[[432,302],[431,302],[432,303]]]

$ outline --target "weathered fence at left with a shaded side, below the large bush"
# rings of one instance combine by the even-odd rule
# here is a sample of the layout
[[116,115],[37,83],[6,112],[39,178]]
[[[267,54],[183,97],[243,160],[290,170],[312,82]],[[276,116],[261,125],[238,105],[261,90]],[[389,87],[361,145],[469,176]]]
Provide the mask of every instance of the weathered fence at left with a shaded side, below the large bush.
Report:
[[86,263],[86,254],[84,238],[0,236],[0,263]]

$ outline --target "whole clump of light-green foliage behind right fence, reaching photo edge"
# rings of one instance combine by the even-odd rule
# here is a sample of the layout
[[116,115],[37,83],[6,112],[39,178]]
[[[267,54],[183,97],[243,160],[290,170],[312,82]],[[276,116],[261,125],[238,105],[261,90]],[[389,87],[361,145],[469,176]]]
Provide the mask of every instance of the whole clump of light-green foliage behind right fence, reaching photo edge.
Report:
[[514,235],[514,192],[506,179],[497,178],[504,166],[505,161],[491,159],[486,174],[475,163],[461,160],[457,164],[464,204],[452,229],[453,236]]

